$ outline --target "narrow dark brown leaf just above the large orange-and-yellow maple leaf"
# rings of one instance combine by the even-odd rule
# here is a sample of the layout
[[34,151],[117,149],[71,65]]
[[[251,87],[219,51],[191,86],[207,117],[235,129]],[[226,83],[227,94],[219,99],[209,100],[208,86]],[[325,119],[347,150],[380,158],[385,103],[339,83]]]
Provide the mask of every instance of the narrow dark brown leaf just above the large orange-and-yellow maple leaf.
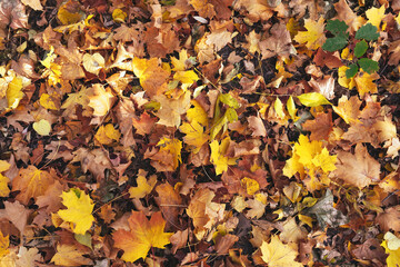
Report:
[[167,228],[179,228],[180,222],[178,220],[178,216],[181,214],[183,208],[182,198],[168,182],[157,186],[156,191],[159,195],[156,198],[156,201],[167,220]]

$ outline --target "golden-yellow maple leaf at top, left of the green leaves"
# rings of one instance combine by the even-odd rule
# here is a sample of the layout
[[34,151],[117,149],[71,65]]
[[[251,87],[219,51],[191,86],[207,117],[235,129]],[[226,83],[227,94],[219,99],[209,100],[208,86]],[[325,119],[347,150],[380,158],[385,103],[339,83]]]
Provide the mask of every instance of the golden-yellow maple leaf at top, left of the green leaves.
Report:
[[320,17],[318,21],[306,19],[304,28],[307,29],[307,31],[299,31],[294,37],[294,41],[299,43],[306,43],[306,47],[308,49],[318,49],[326,41],[326,37],[323,33],[323,22],[324,19],[322,17]]

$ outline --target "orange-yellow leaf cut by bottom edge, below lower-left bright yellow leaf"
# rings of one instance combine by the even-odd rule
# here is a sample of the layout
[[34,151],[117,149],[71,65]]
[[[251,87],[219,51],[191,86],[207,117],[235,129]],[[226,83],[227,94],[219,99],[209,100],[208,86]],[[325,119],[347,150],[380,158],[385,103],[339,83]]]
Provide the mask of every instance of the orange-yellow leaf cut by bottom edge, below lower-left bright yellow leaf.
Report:
[[92,260],[82,256],[82,251],[74,245],[57,245],[57,253],[51,263],[61,266],[92,265]]

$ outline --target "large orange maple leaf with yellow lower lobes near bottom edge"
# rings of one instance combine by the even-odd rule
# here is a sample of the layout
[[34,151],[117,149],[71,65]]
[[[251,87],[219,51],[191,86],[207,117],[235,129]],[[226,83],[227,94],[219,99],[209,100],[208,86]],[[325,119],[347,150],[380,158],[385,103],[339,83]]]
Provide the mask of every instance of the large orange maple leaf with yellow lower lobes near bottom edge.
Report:
[[166,220],[154,212],[150,220],[143,211],[132,211],[128,219],[130,231],[119,229],[112,238],[114,247],[123,249],[122,259],[133,263],[146,258],[151,247],[164,248],[173,233],[164,233]]

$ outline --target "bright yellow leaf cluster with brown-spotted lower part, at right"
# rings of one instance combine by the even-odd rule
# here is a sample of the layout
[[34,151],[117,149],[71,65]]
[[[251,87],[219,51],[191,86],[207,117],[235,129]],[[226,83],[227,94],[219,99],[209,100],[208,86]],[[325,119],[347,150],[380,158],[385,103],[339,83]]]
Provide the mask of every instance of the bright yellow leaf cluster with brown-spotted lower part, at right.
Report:
[[328,186],[328,175],[336,169],[337,156],[329,155],[327,148],[322,148],[321,141],[309,141],[307,136],[300,136],[292,150],[293,156],[287,161],[283,175],[292,177],[300,174],[310,191]]

